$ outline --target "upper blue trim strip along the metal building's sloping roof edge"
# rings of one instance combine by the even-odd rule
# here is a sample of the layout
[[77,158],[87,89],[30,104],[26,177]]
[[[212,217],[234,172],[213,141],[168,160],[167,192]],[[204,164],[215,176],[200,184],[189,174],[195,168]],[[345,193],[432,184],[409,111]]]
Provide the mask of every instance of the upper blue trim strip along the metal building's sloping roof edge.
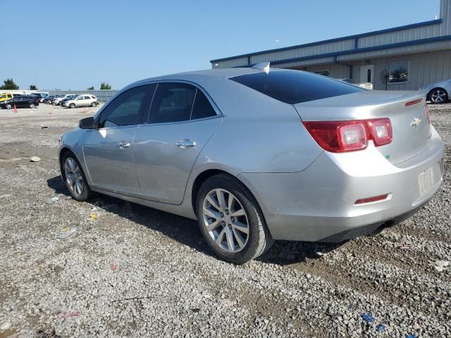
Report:
[[288,47],[277,48],[277,49],[266,49],[265,51],[256,51],[254,53],[241,54],[241,55],[237,55],[237,56],[229,56],[228,58],[217,58],[216,60],[211,60],[210,63],[218,63],[221,61],[233,60],[234,58],[244,58],[246,56],[248,58],[250,58],[250,56],[272,53],[274,51],[287,51],[289,49],[302,48],[302,47],[308,47],[308,46],[317,46],[319,44],[328,44],[330,42],[339,42],[339,41],[345,41],[345,40],[350,40],[350,39],[355,39],[354,44],[356,46],[355,49],[357,49],[359,37],[368,37],[371,35],[378,35],[378,34],[384,34],[384,33],[389,33],[389,32],[397,32],[398,30],[407,30],[409,28],[423,27],[423,26],[428,26],[428,25],[438,25],[440,23],[443,23],[443,19],[430,20],[430,21],[425,21],[423,23],[412,23],[411,25],[393,27],[393,28],[388,28],[385,30],[375,30],[373,32],[367,32],[367,33],[362,33],[362,34],[357,34],[357,35],[349,35],[347,37],[338,37],[335,39],[327,39],[327,40],[322,40],[319,42],[310,42],[308,44],[297,44],[295,46],[288,46]]

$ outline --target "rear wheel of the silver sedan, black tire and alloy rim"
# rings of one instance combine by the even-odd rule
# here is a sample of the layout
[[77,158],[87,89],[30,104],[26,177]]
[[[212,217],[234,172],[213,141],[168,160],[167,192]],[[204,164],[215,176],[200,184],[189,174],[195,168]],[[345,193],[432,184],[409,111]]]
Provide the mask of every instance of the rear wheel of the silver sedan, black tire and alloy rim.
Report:
[[[220,198],[223,208],[218,208]],[[273,244],[257,200],[235,177],[221,174],[207,179],[197,194],[196,211],[206,243],[225,261],[238,265],[247,263]]]

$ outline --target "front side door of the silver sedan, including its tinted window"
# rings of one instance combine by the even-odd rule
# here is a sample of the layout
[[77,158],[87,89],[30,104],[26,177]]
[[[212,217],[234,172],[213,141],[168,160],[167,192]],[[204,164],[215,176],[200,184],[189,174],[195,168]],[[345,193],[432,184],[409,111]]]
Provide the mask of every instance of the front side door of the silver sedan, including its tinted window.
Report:
[[133,138],[155,87],[134,87],[118,95],[96,119],[97,129],[87,131],[83,154],[93,187],[138,194]]

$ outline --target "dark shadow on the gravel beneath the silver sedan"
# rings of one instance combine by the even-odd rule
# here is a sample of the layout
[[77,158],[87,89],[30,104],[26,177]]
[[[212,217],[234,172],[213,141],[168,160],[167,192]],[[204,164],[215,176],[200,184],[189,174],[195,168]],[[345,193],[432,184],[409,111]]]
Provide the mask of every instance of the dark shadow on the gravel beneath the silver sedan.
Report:
[[[56,176],[47,180],[49,188],[54,189],[56,194],[70,196],[66,185],[61,177]],[[82,203],[82,202],[80,202]],[[204,241],[199,232],[197,222],[189,218],[180,217],[164,211],[159,211],[147,206],[141,206],[111,196],[97,194],[87,203],[104,209],[109,213],[116,213],[123,218],[128,218],[133,222],[144,225],[149,229],[161,232],[167,237],[175,239],[181,244],[190,246],[208,256],[214,256],[213,251]],[[328,253],[337,249],[342,244],[311,243],[311,242],[288,242],[277,241],[272,248],[261,256],[259,261],[264,263],[274,263],[288,265],[300,263],[307,258],[319,258],[321,253]],[[214,256],[216,257],[216,256]]]

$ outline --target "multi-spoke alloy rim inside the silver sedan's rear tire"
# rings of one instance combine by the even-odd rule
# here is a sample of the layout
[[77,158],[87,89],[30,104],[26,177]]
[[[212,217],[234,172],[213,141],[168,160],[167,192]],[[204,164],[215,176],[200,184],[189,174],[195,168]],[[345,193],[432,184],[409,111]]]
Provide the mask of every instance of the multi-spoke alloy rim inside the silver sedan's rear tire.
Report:
[[204,199],[202,218],[211,239],[230,253],[245,248],[249,224],[240,201],[225,189],[214,189]]

